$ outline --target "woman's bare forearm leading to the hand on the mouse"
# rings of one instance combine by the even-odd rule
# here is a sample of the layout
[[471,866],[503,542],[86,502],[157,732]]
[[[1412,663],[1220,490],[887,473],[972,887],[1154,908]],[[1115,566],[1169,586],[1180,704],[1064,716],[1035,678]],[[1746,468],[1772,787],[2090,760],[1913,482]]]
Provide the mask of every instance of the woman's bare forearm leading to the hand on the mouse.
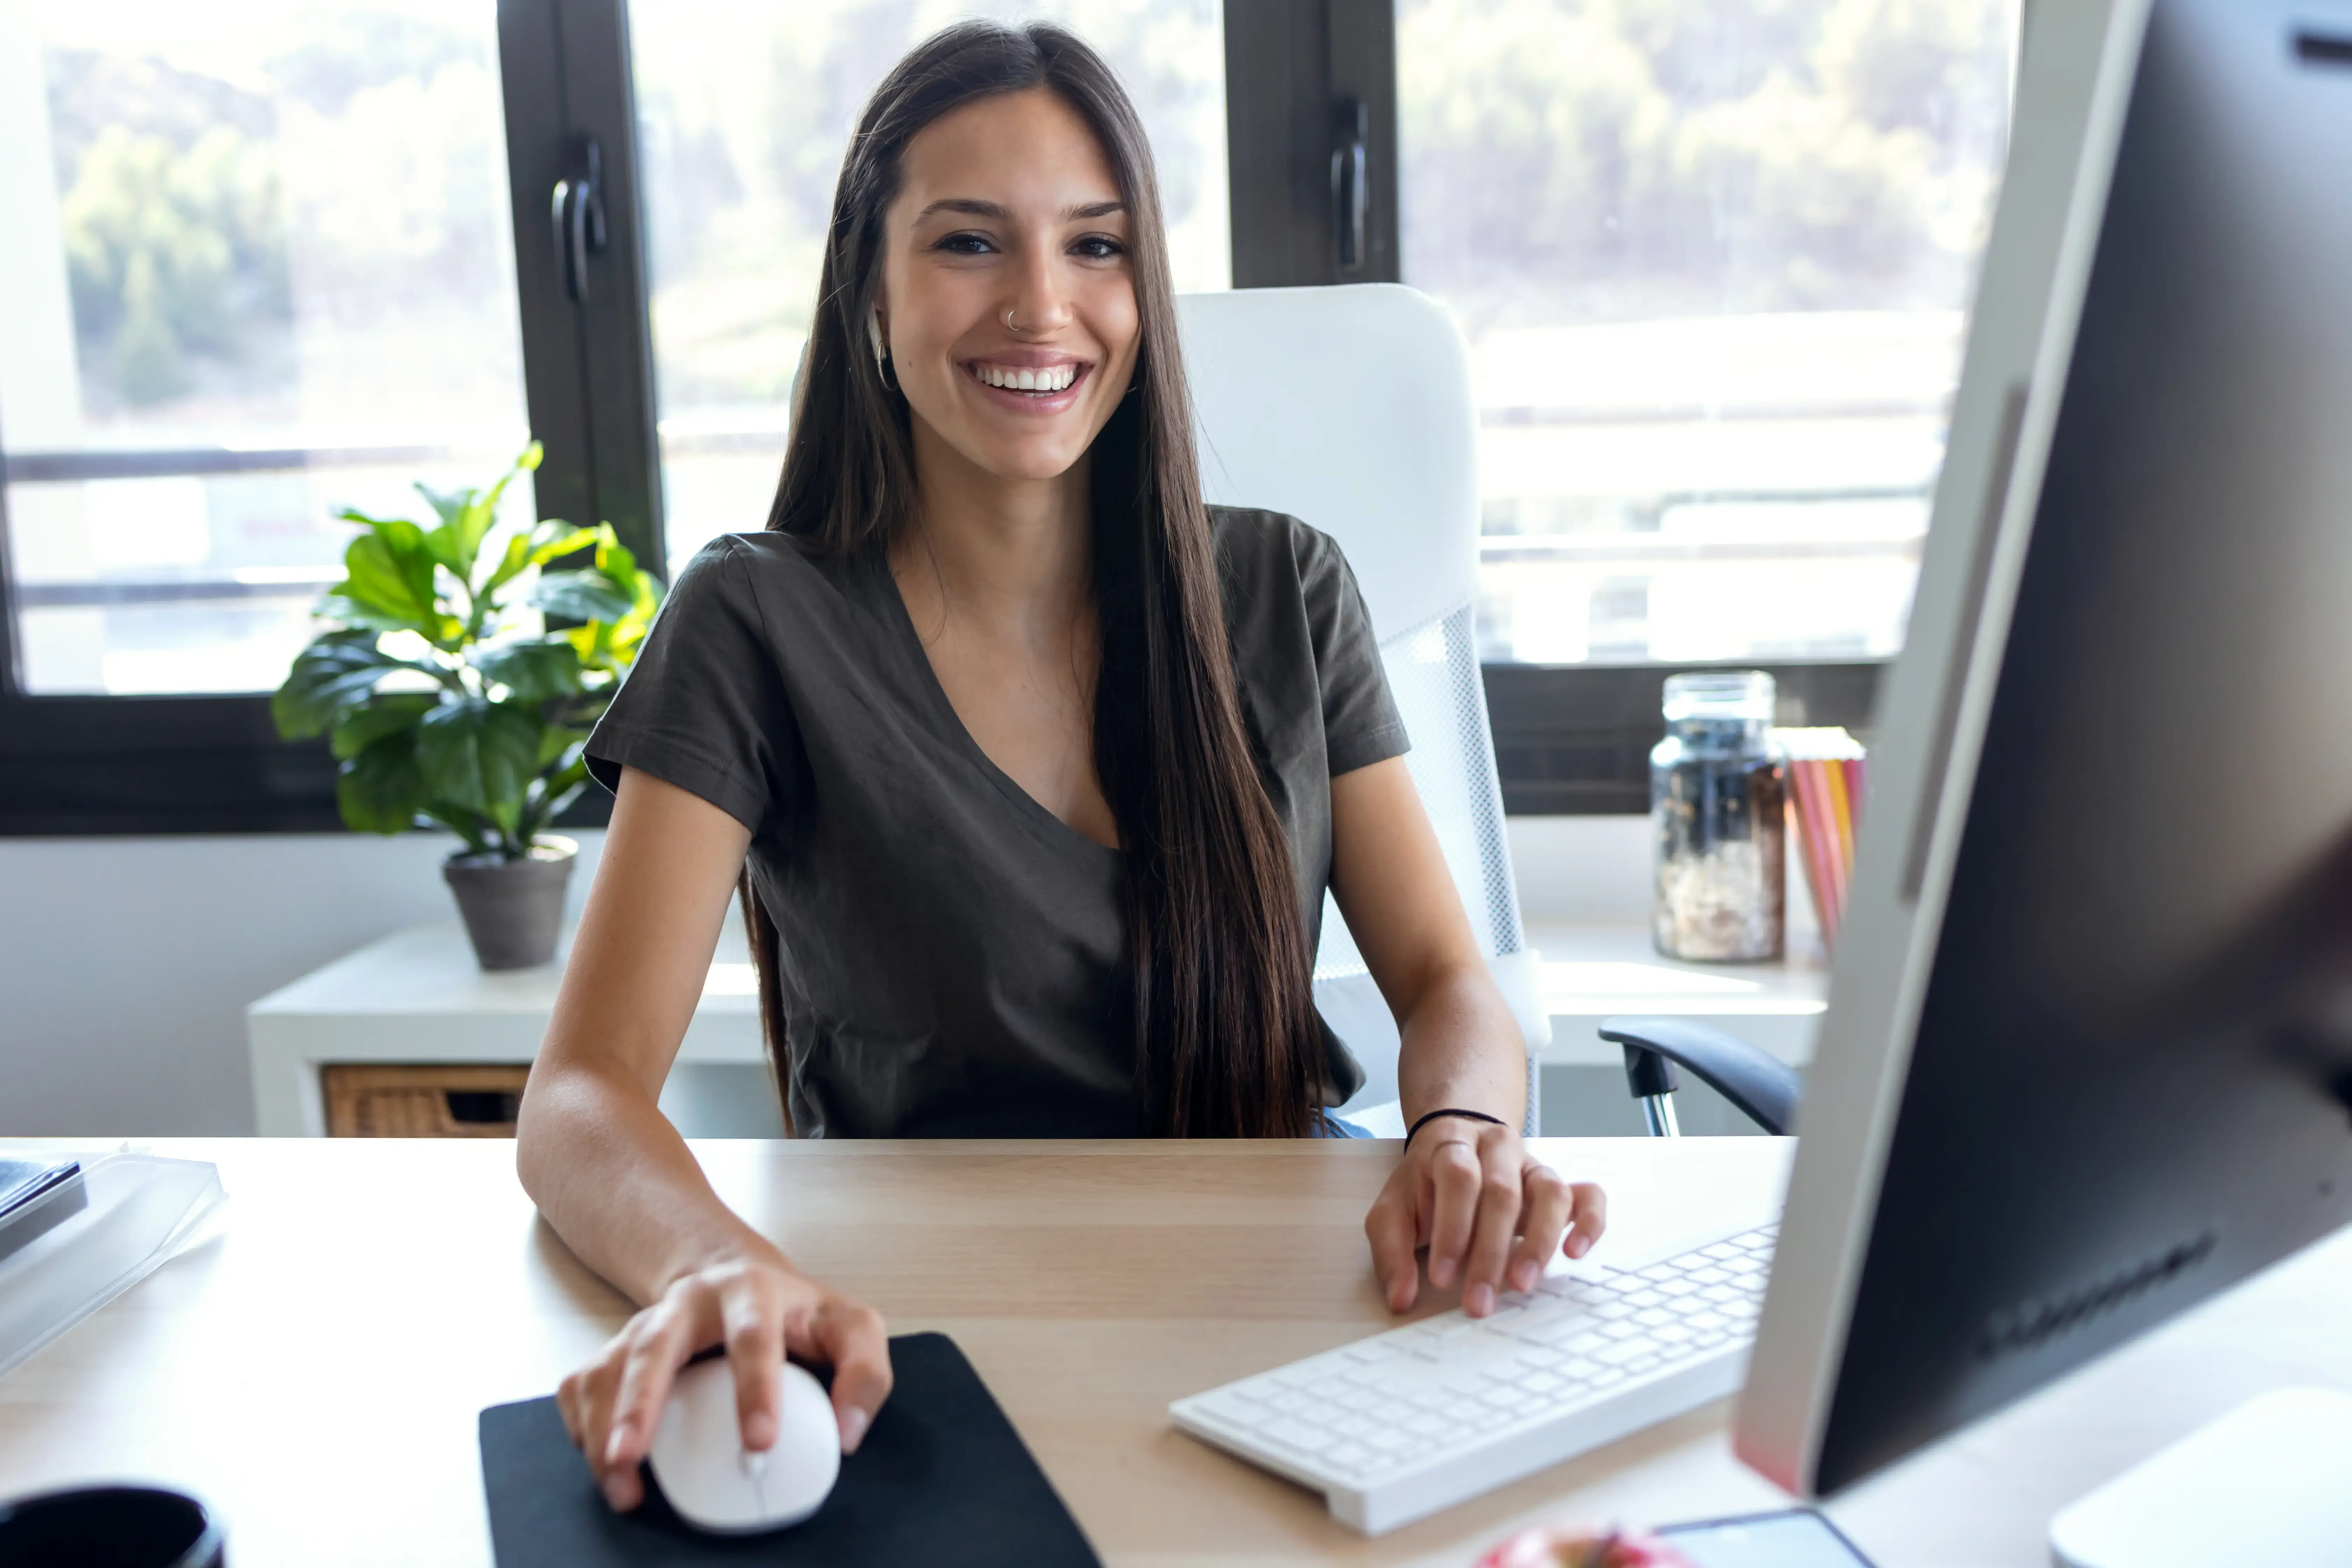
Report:
[[560,1067],[515,1128],[522,1187],[581,1262],[637,1305],[724,1258],[776,1251],[710,1190],[684,1138],[626,1074]]

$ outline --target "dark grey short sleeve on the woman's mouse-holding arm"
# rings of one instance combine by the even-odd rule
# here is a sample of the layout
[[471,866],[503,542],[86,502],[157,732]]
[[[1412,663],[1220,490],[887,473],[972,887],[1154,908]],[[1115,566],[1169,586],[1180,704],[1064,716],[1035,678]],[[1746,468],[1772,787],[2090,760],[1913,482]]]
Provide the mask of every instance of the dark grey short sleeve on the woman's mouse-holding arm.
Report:
[[741,545],[720,534],[670,583],[637,663],[588,736],[607,790],[621,769],[701,795],[753,835],[790,806],[800,731]]

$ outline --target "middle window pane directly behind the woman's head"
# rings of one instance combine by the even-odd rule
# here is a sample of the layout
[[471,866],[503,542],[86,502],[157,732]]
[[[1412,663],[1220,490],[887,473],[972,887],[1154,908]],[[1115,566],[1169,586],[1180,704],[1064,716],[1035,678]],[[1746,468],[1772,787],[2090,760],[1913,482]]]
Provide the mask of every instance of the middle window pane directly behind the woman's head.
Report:
[[1232,277],[1218,0],[630,7],[673,569],[767,522],[826,219],[866,94],[955,16],[1061,21],[1120,71],[1152,139],[1178,289]]

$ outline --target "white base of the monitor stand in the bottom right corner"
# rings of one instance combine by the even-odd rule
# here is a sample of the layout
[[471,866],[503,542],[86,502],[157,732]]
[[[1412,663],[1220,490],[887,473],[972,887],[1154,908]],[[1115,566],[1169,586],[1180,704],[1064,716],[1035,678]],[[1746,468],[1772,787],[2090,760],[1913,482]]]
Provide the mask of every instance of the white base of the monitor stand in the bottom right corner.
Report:
[[2279,1389],[2051,1521],[2058,1568],[2336,1563],[2352,1542],[2352,1394]]

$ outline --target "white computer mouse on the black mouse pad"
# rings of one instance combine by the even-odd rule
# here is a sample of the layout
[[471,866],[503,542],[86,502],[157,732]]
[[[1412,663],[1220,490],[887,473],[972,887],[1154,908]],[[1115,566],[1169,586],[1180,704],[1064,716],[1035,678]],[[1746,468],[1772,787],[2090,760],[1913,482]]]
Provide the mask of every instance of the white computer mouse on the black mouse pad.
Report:
[[786,1361],[776,1446],[743,1448],[724,1356],[677,1373],[654,1432],[654,1481],[677,1516],[715,1535],[781,1530],[814,1514],[842,1474],[842,1429],[826,1385]]

